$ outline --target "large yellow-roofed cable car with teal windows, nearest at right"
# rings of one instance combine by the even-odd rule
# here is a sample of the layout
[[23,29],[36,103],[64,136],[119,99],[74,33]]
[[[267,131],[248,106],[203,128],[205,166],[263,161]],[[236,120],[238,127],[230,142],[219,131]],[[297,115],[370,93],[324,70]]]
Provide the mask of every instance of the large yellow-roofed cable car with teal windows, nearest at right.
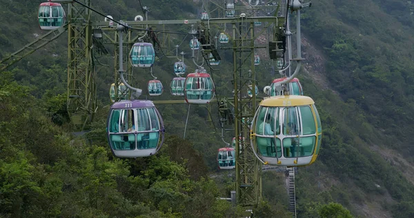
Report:
[[250,132],[259,159],[277,166],[312,164],[322,140],[315,102],[301,95],[264,99],[255,113]]

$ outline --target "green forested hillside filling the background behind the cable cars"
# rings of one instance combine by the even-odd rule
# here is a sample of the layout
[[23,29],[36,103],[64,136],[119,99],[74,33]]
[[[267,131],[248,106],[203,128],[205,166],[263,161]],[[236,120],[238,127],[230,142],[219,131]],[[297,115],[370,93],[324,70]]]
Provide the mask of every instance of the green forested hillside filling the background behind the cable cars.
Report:
[[[46,33],[36,19],[40,2],[0,0],[0,59]],[[150,8],[148,19],[195,19],[201,8],[191,0],[141,3]],[[92,1],[92,6],[115,19],[142,14],[135,0]],[[328,217],[335,209],[348,217],[342,206],[354,217],[414,217],[413,9],[411,1],[402,0],[318,0],[302,11],[307,60],[299,79],[304,94],[315,100],[324,136],[316,163],[299,168],[296,176],[298,217]],[[175,31],[188,30],[177,26]],[[110,66],[97,66],[99,109],[90,132],[71,134],[67,41],[63,34],[1,72],[0,217],[240,215],[241,208],[217,200],[229,197],[233,179],[217,172],[216,152],[224,143],[205,108],[191,106],[183,140],[188,106],[157,106],[168,133],[161,152],[143,159],[112,157],[105,135],[110,55],[97,57]],[[172,36],[170,43],[181,45],[186,63],[191,62],[188,41]],[[164,86],[173,77],[175,60],[155,63],[153,72]],[[277,77],[270,64],[264,60],[256,69],[261,90]],[[225,59],[214,72],[219,95],[230,95],[232,68]],[[134,75],[139,87],[152,78],[144,70]],[[217,118],[217,108],[212,113]],[[226,141],[232,137],[225,132]],[[266,202],[255,210],[257,217],[290,217],[284,175],[264,173],[263,186]]]

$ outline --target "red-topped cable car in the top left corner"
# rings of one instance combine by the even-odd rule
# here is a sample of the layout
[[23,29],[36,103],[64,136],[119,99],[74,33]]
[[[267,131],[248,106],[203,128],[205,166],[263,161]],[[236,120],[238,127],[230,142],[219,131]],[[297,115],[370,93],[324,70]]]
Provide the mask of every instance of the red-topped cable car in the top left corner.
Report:
[[60,3],[48,1],[40,4],[37,19],[41,30],[56,30],[65,24],[65,10]]

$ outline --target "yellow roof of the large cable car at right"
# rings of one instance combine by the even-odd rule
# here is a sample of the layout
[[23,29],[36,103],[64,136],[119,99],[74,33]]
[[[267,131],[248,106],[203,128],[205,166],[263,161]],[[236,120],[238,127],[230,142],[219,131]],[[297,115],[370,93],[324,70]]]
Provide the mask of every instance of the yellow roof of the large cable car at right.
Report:
[[260,102],[260,106],[266,107],[285,107],[285,106],[306,106],[314,104],[315,101],[302,95],[280,95],[269,97]]

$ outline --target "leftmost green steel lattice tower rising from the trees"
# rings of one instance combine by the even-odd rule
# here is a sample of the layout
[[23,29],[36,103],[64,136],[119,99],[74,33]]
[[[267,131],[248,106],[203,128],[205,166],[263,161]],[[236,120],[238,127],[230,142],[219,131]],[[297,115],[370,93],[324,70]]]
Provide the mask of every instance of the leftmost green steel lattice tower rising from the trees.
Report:
[[[90,6],[89,0],[83,3]],[[68,4],[68,21],[67,110],[75,128],[83,130],[97,109],[90,10]]]

